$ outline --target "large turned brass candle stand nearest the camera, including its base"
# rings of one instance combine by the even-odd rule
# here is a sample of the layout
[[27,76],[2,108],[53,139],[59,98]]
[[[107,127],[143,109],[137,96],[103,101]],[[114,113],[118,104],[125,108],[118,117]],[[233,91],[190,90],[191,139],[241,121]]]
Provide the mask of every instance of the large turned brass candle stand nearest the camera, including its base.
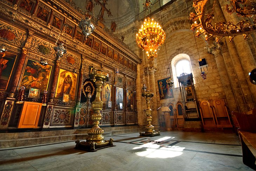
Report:
[[87,132],[88,137],[86,141],[80,142],[77,140],[75,148],[85,150],[85,151],[96,151],[96,149],[106,148],[113,145],[113,138],[110,138],[109,141],[104,140],[104,136],[102,136],[104,130],[100,128],[99,123],[101,120],[101,113],[103,103],[100,99],[101,94],[101,87],[108,81],[108,74],[103,72],[102,70],[97,70],[93,67],[90,67],[89,72],[90,78],[96,84],[96,97],[95,100],[92,102],[92,109],[93,109],[93,127]]

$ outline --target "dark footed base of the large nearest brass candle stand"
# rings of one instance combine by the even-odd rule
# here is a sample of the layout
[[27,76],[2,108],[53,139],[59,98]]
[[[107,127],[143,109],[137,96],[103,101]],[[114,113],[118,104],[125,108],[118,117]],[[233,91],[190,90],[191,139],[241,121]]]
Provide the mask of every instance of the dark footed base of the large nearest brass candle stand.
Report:
[[80,142],[79,140],[76,140],[75,148],[79,150],[88,151],[88,152],[94,152],[103,148],[115,146],[113,144],[113,141],[114,141],[113,138],[110,138],[109,140],[106,140],[103,143],[86,142],[86,141]]

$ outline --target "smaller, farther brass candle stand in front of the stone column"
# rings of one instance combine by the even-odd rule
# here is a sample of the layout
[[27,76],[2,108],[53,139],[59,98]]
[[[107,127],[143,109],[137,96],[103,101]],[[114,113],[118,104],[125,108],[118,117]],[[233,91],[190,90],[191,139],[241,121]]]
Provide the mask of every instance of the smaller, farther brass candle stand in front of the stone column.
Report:
[[142,96],[146,98],[146,103],[147,103],[146,115],[147,115],[148,124],[147,124],[147,126],[145,126],[146,131],[140,132],[140,136],[149,136],[149,137],[158,136],[158,135],[160,135],[160,131],[155,131],[154,130],[155,127],[153,125],[151,125],[152,110],[150,109],[150,102],[151,102],[151,97],[153,97],[154,94],[149,92],[149,90],[147,90],[147,87],[145,84],[143,84],[142,89],[143,89]]

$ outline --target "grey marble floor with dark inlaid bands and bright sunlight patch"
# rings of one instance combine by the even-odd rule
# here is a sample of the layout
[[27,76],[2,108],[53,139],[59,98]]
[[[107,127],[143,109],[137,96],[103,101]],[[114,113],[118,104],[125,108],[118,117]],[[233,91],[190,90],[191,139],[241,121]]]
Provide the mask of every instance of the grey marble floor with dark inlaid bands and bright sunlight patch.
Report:
[[1,149],[0,170],[13,171],[244,171],[240,139],[232,133],[139,132],[114,138],[114,147],[86,152],[75,142]]

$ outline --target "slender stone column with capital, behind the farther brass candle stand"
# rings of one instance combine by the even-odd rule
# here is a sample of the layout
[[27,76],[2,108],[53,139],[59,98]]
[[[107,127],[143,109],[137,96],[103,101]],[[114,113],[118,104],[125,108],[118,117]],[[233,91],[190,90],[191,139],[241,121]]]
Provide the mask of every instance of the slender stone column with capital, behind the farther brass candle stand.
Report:
[[157,71],[157,67],[155,64],[151,64],[148,68],[149,71],[149,91],[154,93],[154,96],[151,98],[151,109],[152,109],[152,125],[155,126],[155,128],[159,129],[159,122],[158,122],[158,115],[157,115],[157,100],[156,100],[156,84],[155,84],[155,72]]

